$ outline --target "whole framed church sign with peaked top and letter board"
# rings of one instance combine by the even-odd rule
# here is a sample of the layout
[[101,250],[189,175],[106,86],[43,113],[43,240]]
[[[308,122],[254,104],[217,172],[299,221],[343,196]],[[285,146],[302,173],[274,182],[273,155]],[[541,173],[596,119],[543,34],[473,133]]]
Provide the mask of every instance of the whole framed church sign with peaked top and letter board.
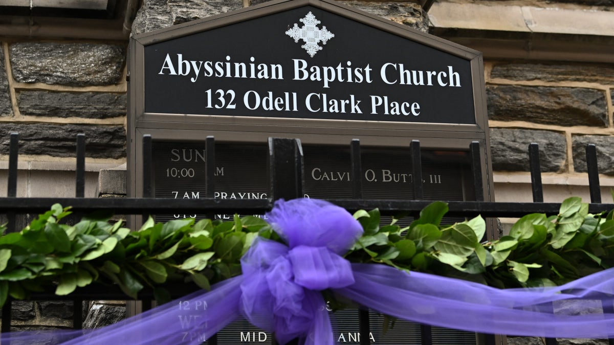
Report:
[[[414,139],[424,199],[476,200],[468,147],[479,142],[483,198],[492,200],[483,63],[470,48],[332,0],[281,0],[134,36],[128,73],[128,196],[143,195],[150,134],[157,198],[208,195],[204,141],[214,136],[211,194],[220,199],[269,197],[266,143],[276,137],[300,139],[305,197],[330,200],[351,198],[354,179],[365,198],[413,198]],[[336,317],[335,339],[357,344],[354,312]],[[384,334],[371,317],[371,343],[419,334],[411,324]],[[455,333],[449,343],[464,337],[475,339]],[[241,322],[218,334],[217,344],[239,343],[271,344],[271,335]]]

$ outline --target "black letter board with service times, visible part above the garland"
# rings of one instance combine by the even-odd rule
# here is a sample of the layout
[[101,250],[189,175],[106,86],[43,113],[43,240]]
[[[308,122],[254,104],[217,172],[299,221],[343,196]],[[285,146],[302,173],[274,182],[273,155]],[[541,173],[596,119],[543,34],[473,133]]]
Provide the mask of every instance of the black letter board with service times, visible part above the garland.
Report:
[[[153,143],[155,197],[198,199],[207,194],[204,182],[204,143],[155,141]],[[352,198],[349,145],[304,145],[306,198]],[[214,197],[219,199],[268,198],[266,144],[216,145]],[[411,157],[407,149],[363,147],[363,196],[372,199],[413,199]],[[473,200],[468,186],[467,152],[422,153],[422,184],[425,200]],[[198,214],[158,215],[157,220],[204,217]],[[231,215],[216,215],[231,219]]]

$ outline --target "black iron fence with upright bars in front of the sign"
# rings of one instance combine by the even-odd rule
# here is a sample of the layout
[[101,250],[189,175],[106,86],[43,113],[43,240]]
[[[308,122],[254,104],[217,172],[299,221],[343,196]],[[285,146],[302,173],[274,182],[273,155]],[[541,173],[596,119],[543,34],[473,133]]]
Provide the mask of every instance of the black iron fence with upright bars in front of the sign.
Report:
[[[49,210],[55,203],[72,206],[72,211],[77,214],[85,214],[92,211],[114,211],[116,214],[125,215],[147,215],[162,214],[173,212],[199,212],[204,214],[263,214],[270,211],[274,200],[284,198],[290,200],[303,196],[303,154],[300,142],[293,139],[271,138],[268,141],[268,177],[269,177],[269,198],[267,199],[216,199],[214,198],[215,184],[213,176],[216,164],[214,156],[214,138],[206,139],[206,196],[199,199],[176,199],[168,200],[153,198],[152,188],[152,138],[143,138],[143,171],[144,174],[142,198],[85,198],[85,136],[79,134],[76,144],[76,195],[74,198],[17,198],[17,161],[18,161],[18,134],[10,135],[9,145],[9,170],[7,179],[7,197],[0,198],[0,212],[6,214],[8,223],[7,231],[17,231],[15,226],[18,214],[36,214]],[[360,142],[354,140],[350,144],[351,155],[351,174],[352,176],[361,175],[360,161]],[[422,200],[422,160],[421,149],[418,141],[411,142],[410,145],[412,173],[413,173],[413,195],[414,200],[381,200],[365,199],[362,197],[362,180],[352,179],[352,198],[330,200],[338,206],[357,211],[359,209],[378,208],[383,215],[398,214],[400,211],[418,214],[424,207],[432,201]],[[529,213],[545,213],[548,215],[558,214],[559,203],[544,203],[542,175],[540,172],[540,160],[537,144],[529,145],[530,176],[533,194],[533,203],[496,203],[484,201],[483,180],[480,163],[480,144],[473,142],[468,147],[470,165],[472,171],[472,185],[475,191],[475,201],[448,201],[451,217],[473,217],[482,215],[486,218],[497,217],[521,217]],[[591,195],[589,212],[596,214],[603,211],[614,209],[612,203],[602,203],[600,195],[599,171],[597,170],[597,154],[594,145],[586,147],[586,161],[588,165],[588,182]],[[443,200],[445,201],[445,200]],[[181,289],[181,288],[180,288]],[[175,290],[177,297],[182,293],[192,291]],[[121,300],[126,296],[119,290],[109,291],[105,288],[100,289],[95,286],[79,288],[68,297],[59,297],[53,292],[37,293],[33,296],[38,300],[72,300],[75,306],[79,306],[84,300]],[[144,290],[139,293],[139,299],[151,301],[152,291]],[[144,306],[151,303],[144,303]],[[606,307],[604,307],[606,308]],[[613,306],[607,308],[614,309]],[[2,308],[2,332],[10,331],[11,327],[11,303],[6,303]],[[614,311],[610,311],[614,312]],[[370,343],[370,325],[368,311],[359,311],[360,344]],[[82,325],[81,308],[74,308],[74,328]],[[429,325],[421,326],[421,344],[432,344],[432,332]],[[495,337],[492,335],[483,336],[486,344],[495,344]],[[215,336],[210,338],[209,344],[216,345]],[[609,339],[610,344],[614,344],[614,339]],[[556,344],[556,339],[546,339],[546,344]]]

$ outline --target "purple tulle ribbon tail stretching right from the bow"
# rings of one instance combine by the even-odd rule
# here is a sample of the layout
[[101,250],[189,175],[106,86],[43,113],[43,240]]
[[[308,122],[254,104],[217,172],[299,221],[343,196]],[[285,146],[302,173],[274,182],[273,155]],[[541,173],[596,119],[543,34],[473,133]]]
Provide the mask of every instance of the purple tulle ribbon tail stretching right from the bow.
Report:
[[[353,264],[356,283],[335,292],[398,319],[479,333],[548,338],[612,338],[614,314],[601,311],[612,295],[590,282],[614,284],[614,269],[565,289],[495,289],[385,265]],[[585,284],[587,282],[588,284]],[[599,296],[599,298],[597,298]],[[568,301],[562,301],[568,300]],[[579,301],[578,301],[579,300]],[[554,309],[558,310],[556,314]],[[592,304],[592,305],[591,305]],[[580,314],[599,309],[593,314]]]

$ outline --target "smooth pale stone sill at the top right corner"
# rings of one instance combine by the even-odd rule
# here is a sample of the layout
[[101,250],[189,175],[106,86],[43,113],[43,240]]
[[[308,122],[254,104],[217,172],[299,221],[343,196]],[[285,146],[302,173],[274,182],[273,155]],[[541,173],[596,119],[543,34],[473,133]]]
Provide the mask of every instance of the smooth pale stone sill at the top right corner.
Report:
[[612,63],[614,12],[435,2],[430,33],[486,58]]

